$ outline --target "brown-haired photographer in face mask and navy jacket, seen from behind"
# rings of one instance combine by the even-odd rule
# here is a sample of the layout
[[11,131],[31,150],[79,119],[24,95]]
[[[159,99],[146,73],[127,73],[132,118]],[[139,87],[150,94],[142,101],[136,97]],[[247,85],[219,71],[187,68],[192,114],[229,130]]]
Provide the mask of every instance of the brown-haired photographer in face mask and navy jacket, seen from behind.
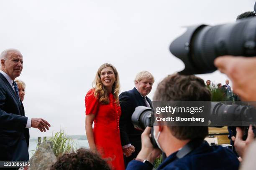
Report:
[[[210,91],[204,81],[194,75],[169,75],[162,80],[155,92],[156,101],[209,101]],[[160,150],[150,142],[150,130],[143,134],[142,148],[137,158],[128,164],[127,170],[153,168],[151,165]],[[153,135],[153,134],[151,134]],[[239,162],[231,150],[221,146],[209,146],[204,141],[207,126],[154,126],[154,139],[167,158],[158,169],[238,169]]]

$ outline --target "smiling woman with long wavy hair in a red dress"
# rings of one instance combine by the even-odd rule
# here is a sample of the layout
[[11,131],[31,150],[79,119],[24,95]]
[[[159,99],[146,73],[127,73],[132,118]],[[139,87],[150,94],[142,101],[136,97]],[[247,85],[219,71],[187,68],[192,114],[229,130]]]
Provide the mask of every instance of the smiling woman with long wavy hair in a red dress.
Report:
[[119,131],[120,82],[115,67],[111,64],[101,65],[93,84],[94,88],[85,96],[85,130],[90,149],[97,150],[114,170],[124,170]]

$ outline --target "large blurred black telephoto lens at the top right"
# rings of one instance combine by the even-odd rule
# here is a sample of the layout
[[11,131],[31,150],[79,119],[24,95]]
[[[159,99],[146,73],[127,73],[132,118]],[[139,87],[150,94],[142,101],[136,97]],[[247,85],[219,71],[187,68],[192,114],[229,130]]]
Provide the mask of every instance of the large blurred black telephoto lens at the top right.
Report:
[[185,68],[179,74],[214,72],[216,57],[222,55],[256,56],[256,17],[216,26],[196,25],[174,40],[170,52]]

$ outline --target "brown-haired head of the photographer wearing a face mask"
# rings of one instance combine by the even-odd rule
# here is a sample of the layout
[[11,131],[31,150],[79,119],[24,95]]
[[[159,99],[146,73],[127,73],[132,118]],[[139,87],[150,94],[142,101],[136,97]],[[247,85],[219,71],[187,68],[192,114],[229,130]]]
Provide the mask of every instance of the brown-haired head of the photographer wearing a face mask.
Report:
[[[204,80],[195,75],[169,75],[162,80],[154,94],[156,101],[210,101],[210,91]],[[161,133],[161,135],[160,135]],[[154,126],[154,138],[166,155],[186,145],[193,139],[204,139],[207,126]],[[170,141],[173,145],[170,146]]]

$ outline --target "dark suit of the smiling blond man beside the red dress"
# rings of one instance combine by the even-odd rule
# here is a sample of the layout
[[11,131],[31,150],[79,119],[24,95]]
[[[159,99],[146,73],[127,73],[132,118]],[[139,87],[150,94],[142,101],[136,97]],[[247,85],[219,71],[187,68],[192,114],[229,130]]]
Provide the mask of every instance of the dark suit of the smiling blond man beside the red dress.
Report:
[[[146,97],[146,100],[151,108],[153,108],[151,100],[148,97]],[[141,150],[141,133],[143,132],[134,128],[131,121],[131,116],[137,106],[146,106],[146,103],[135,87],[133,90],[122,92],[119,95],[119,102],[122,110],[119,122],[121,144],[124,146],[131,143],[136,150],[130,157],[127,158],[128,160],[125,161],[128,163],[133,158],[136,158],[138,152]]]

